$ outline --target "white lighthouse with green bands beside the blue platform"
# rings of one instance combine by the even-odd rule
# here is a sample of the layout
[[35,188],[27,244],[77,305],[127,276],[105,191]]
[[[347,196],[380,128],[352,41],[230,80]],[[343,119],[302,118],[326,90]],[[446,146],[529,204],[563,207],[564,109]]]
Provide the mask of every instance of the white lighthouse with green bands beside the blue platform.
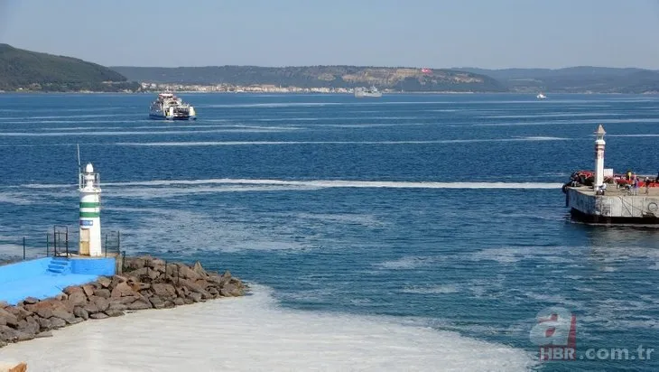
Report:
[[80,191],[80,256],[101,256],[101,189],[100,177],[88,163],[79,173]]

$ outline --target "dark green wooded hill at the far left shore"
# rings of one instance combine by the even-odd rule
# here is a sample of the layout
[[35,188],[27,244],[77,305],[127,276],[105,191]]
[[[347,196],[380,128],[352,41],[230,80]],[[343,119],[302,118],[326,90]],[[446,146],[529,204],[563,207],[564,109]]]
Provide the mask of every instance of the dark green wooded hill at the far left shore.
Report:
[[120,91],[135,90],[115,70],[96,63],[0,44],[0,90]]

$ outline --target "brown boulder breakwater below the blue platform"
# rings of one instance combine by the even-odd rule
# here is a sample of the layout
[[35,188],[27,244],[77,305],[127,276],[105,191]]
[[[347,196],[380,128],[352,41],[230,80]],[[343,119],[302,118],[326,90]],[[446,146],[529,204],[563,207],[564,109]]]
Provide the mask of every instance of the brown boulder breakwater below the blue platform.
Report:
[[26,298],[15,306],[0,302],[0,348],[11,342],[51,337],[52,330],[89,319],[242,296],[247,289],[228,271],[207,272],[199,262],[188,266],[150,256],[126,257],[121,274],[67,287],[54,298]]

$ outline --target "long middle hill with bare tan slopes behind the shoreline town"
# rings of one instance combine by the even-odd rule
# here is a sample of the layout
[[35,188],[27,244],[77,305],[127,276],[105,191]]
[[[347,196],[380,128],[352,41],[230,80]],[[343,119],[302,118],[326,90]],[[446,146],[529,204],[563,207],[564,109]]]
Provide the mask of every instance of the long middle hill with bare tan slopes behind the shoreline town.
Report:
[[403,91],[501,92],[496,79],[474,72],[414,68],[304,66],[304,67],[112,67],[128,79],[151,83],[275,85],[300,88],[354,88],[376,86]]

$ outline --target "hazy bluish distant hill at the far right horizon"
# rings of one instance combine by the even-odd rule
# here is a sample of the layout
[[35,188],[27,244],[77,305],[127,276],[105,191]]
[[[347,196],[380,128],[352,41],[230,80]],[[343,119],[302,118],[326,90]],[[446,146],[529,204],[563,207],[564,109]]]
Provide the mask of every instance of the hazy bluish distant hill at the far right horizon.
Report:
[[455,68],[490,76],[514,92],[657,93],[659,71],[579,66],[565,69]]

